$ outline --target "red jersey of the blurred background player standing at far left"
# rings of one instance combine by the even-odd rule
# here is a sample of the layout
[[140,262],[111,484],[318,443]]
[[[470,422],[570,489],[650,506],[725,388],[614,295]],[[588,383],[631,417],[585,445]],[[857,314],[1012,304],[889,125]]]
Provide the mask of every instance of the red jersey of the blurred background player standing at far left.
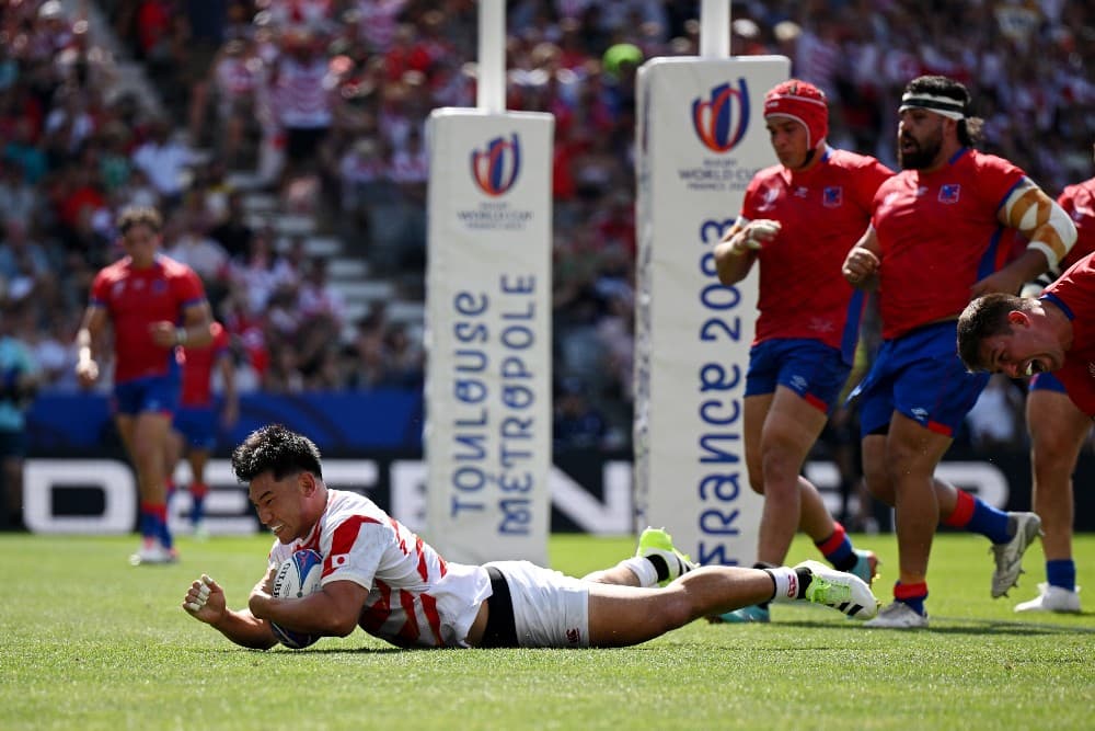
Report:
[[149,325],[181,325],[185,310],[204,301],[205,288],[194,270],[163,254],[148,269],[134,269],[129,256],[102,269],[91,285],[90,306],[106,308],[114,325],[115,382],[163,376],[174,368],[174,349],[152,342]]

